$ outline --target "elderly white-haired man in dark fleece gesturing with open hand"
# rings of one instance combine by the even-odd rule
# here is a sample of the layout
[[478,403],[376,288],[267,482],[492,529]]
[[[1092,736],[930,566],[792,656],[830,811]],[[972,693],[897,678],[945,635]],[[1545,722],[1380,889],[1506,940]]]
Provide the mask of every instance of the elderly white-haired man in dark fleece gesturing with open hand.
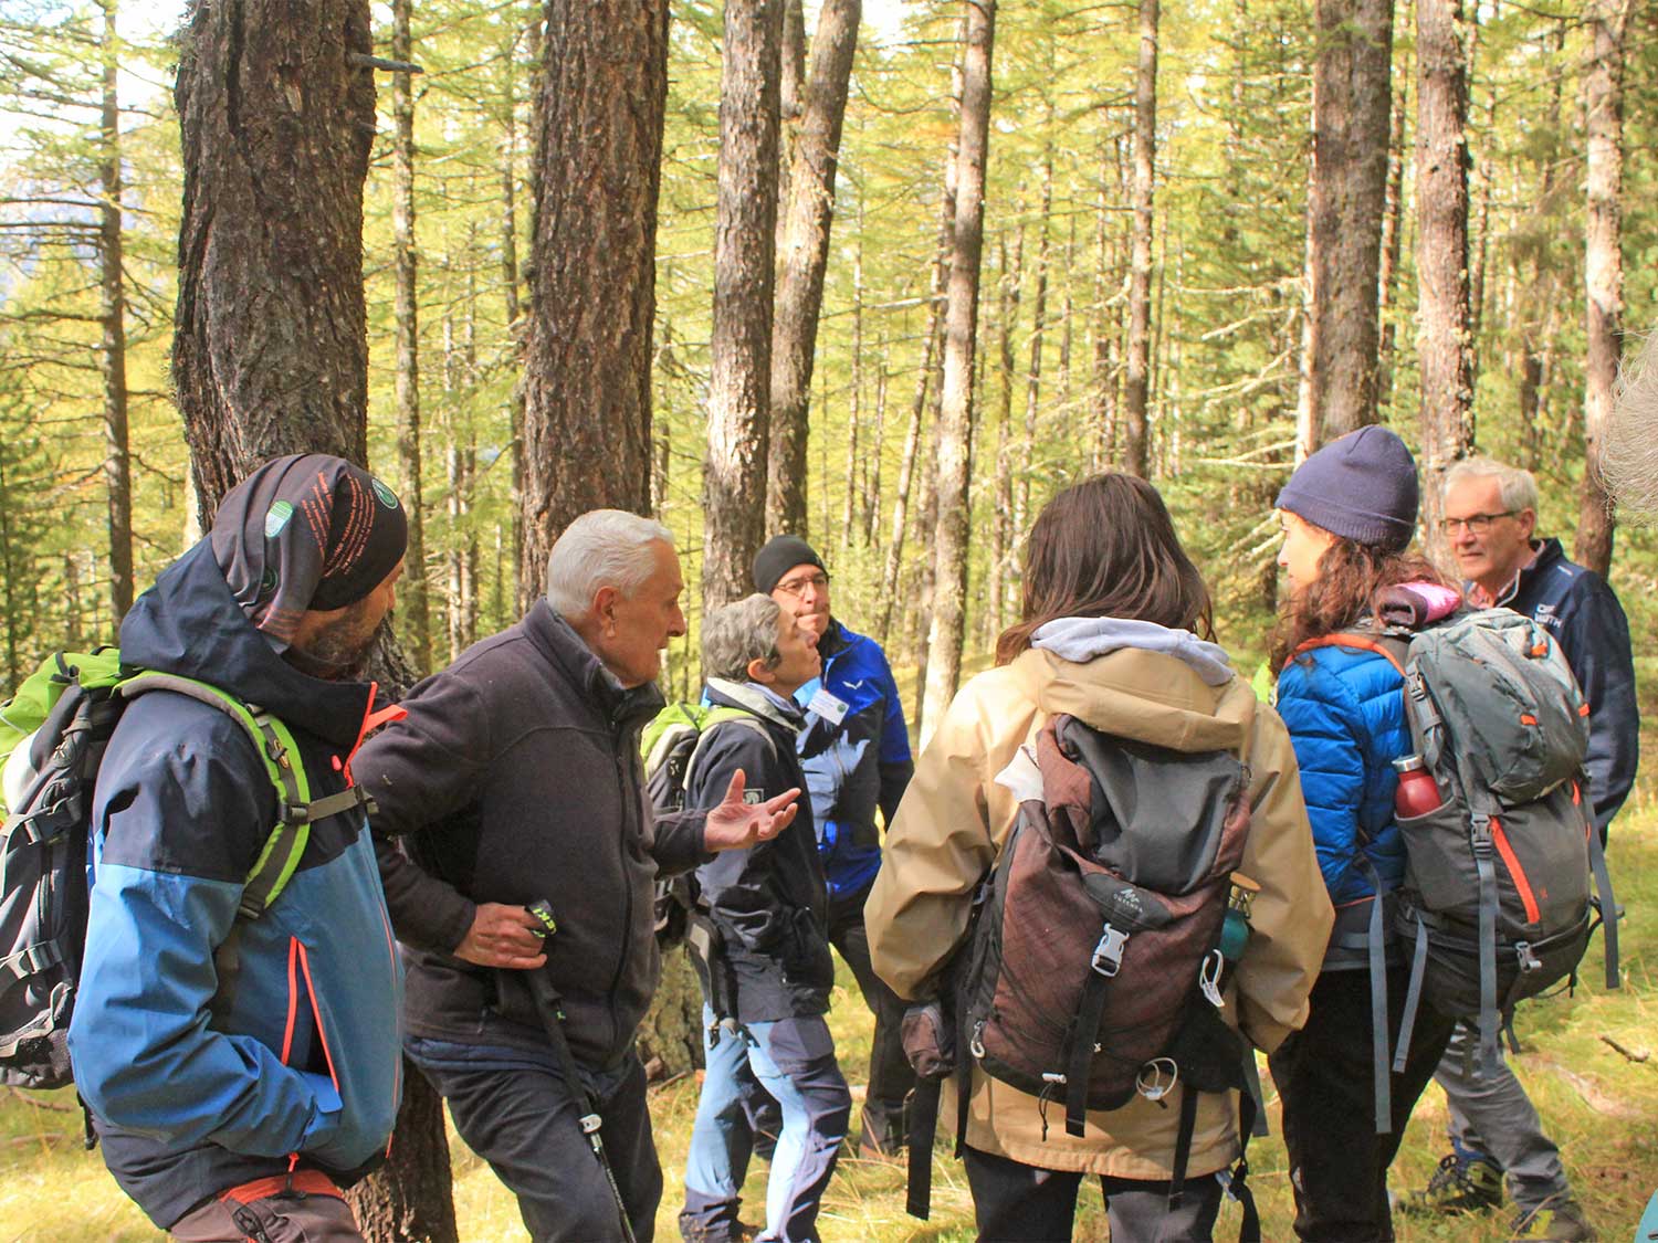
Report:
[[[410,691],[353,761],[413,951],[405,1047],[537,1243],[653,1236],[662,1168],[633,1051],[660,975],[652,882],[794,819],[799,791],[746,804],[741,772],[708,810],[652,814],[638,731],[663,706],[683,588],[662,524],[584,514],[545,598]],[[542,900],[554,928],[527,910]]]

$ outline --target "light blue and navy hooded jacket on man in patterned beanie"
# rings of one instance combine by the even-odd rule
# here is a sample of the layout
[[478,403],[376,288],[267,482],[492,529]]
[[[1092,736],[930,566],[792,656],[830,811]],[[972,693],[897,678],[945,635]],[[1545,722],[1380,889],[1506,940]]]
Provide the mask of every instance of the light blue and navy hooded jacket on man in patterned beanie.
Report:
[[[312,797],[345,789],[373,688],[310,678],[242,615],[204,540],[133,605],[133,665],[212,683],[279,716]],[[214,950],[277,824],[245,729],[171,691],[126,709],[93,800],[91,915],[70,1028],[104,1162],[167,1228],[229,1187],[378,1163],[401,1094],[401,970],[361,809],[320,819],[270,908]]]

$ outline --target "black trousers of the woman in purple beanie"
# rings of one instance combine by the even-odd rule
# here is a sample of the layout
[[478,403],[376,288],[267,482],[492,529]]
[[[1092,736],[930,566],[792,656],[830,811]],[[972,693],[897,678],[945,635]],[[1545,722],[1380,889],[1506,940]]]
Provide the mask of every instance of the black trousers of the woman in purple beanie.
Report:
[[[1388,971],[1389,1061],[1409,968]],[[1393,1074],[1391,1122],[1376,1134],[1370,971],[1325,971],[1313,984],[1307,1026],[1268,1057],[1283,1102],[1295,1233],[1308,1243],[1391,1243],[1388,1165],[1404,1124],[1439,1066],[1456,1023],[1426,1004],[1416,1014],[1403,1074]]]

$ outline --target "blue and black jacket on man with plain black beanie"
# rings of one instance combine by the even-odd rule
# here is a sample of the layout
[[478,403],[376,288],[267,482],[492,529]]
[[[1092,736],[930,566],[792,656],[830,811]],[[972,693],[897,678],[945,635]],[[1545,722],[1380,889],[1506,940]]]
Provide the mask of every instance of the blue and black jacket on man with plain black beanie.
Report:
[[[899,686],[880,645],[831,618],[817,655],[822,675],[794,693],[807,709],[799,752],[829,897],[841,898],[875,883],[875,810],[892,824],[915,762]],[[819,693],[834,703],[832,709]]]

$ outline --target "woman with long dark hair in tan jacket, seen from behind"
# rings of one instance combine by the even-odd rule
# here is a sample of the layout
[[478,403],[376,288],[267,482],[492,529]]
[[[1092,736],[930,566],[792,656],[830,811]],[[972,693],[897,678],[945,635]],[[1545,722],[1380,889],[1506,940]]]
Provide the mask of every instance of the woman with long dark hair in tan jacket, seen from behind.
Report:
[[[940,719],[887,832],[867,918],[875,970],[900,996],[925,1003],[945,988],[973,893],[1018,814],[996,777],[1068,714],[1146,751],[1229,752],[1248,766],[1237,870],[1260,892],[1220,1014],[1260,1049],[1300,1026],[1331,913],[1283,724],[1210,640],[1209,590],[1151,484],[1094,476],[1043,509],[1021,620],[1001,635],[996,666]],[[965,1160],[980,1238],[1069,1240],[1084,1175],[1101,1180],[1117,1243],[1210,1238],[1222,1198],[1212,1175],[1240,1150],[1239,1097],[1194,1094],[1184,1193],[1171,1212],[1182,1109],[1159,1095],[1142,1089],[1121,1109],[1088,1110],[1073,1135],[1063,1102],[991,1079],[975,1061]]]

